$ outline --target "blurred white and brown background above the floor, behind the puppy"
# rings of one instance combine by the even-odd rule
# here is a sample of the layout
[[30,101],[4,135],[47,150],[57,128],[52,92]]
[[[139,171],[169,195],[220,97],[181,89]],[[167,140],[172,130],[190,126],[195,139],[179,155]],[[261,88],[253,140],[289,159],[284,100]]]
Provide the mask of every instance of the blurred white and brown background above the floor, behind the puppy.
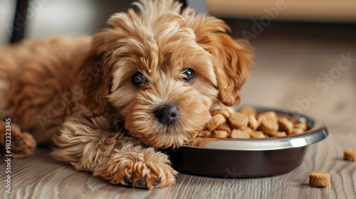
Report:
[[[0,45],[9,42],[14,15],[18,26],[25,26],[25,38],[46,38],[68,34],[93,35],[107,27],[115,12],[127,11],[132,0],[20,0],[26,11],[16,12],[16,0],[0,1]],[[266,36],[269,33],[311,32],[319,36],[355,39],[356,1],[354,0],[186,0],[186,5],[234,23],[233,33],[242,30]],[[23,21],[26,16],[26,21]],[[256,25],[257,24],[257,25]],[[256,28],[254,28],[256,27]],[[277,31],[276,28],[279,28]],[[261,31],[260,31],[261,30]],[[238,31],[238,32],[236,32]],[[261,33],[260,33],[261,32]],[[251,36],[252,34],[250,34]],[[259,37],[259,36],[258,36]],[[258,39],[252,36],[254,40]],[[355,41],[355,40],[354,40]]]

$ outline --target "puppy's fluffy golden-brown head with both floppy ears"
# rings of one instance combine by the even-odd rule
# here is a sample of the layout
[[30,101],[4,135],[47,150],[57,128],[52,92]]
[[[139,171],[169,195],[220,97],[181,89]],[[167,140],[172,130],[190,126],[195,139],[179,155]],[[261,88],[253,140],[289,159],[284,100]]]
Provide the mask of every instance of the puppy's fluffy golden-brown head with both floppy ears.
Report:
[[216,101],[239,103],[251,51],[214,17],[194,16],[172,1],[142,1],[114,14],[79,70],[85,113],[108,107],[126,129],[154,147],[180,146],[209,122]]

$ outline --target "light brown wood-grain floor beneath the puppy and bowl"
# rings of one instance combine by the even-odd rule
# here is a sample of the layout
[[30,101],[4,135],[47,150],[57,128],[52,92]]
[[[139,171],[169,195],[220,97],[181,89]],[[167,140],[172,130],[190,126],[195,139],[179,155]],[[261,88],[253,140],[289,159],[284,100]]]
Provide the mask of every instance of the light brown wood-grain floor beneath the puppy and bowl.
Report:
[[[243,103],[303,109],[324,122],[330,133],[311,145],[302,165],[289,173],[248,179],[179,174],[177,183],[167,188],[132,189],[75,171],[40,148],[31,157],[12,160],[11,194],[5,193],[6,164],[1,158],[0,198],[356,198],[356,162],[342,160],[345,149],[356,147],[356,60],[340,77],[318,80],[337,70],[340,55],[356,58],[356,40],[348,36],[266,31],[251,40],[256,58],[241,91]],[[318,100],[298,104],[310,91]],[[330,173],[331,185],[310,187],[308,174],[313,171]]]

